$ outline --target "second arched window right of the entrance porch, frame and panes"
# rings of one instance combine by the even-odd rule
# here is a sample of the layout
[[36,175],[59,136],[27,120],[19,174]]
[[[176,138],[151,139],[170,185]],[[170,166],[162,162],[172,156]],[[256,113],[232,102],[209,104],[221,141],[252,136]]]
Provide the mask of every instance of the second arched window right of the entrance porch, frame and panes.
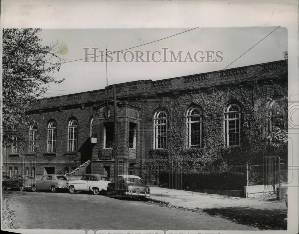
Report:
[[202,147],[202,111],[193,105],[187,110],[186,117],[189,148]]

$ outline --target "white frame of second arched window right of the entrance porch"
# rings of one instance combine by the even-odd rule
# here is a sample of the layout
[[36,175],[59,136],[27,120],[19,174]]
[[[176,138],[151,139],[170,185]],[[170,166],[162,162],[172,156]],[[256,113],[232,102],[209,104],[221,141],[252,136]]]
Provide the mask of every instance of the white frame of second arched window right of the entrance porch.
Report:
[[[193,114],[194,110],[198,110],[200,114]],[[199,117],[199,120],[193,121],[192,118]],[[187,136],[188,136],[188,147],[189,148],[199,148],[202,147],[202,110],[197,105],[192,105],[188,108],[186,112],[186,121],[187,121]],[[191,129],[192,124],[199,124],[199,144],[192,144],[191,138]]]

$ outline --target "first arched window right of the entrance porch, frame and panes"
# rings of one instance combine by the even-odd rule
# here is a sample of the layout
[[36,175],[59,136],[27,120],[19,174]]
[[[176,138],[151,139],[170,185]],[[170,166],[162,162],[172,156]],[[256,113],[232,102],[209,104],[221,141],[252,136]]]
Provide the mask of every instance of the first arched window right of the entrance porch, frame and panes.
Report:
[[157,111],[154,115],[154,149],[162,149],[167,143],[167,114]]

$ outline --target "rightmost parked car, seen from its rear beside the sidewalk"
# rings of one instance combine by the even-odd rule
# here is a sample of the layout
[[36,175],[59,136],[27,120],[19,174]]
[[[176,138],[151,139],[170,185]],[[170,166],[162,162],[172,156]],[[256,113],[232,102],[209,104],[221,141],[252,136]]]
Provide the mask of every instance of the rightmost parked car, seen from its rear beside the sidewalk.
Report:
[[119,196],[149,197],[150,189],[142,184],[142,179],[137,175],[118,175],[115,182],[110,185],[111,193]]

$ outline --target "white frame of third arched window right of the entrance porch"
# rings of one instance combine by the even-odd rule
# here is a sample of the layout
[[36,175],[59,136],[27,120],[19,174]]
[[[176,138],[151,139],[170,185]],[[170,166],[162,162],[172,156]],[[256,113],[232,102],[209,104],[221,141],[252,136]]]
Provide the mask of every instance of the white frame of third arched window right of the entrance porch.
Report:
[[[237,111],[230,111],[231,107],[237,107],[238,110]],[[230,118],[229,115],[231,114],[238,114],[238,117],[233,117]],[[230,141],[229,141],[229,121],[234,121],[234,120],[238,120],[239,121],[239,144],[236,145],[229,145]],[[226,130],[226,132],[225,132]],[[231,104],[227,107],[225,113],[224,113],[224,121],[223,121],[223,133],[224,133],[224,143],[225,146],[227,147],[236,147],[236,146],[240,146],[240,142],[241,142],[241,108],[238,104]]]

